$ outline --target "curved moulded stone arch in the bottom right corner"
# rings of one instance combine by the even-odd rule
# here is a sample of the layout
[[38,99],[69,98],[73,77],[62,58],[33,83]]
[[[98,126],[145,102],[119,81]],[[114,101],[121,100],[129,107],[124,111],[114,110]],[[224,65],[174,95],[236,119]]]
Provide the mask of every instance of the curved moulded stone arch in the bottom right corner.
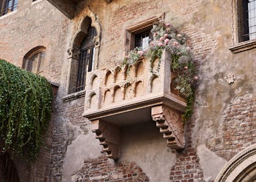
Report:
[[215,182],[256,180],[256,144],[235,155],[218,174]]

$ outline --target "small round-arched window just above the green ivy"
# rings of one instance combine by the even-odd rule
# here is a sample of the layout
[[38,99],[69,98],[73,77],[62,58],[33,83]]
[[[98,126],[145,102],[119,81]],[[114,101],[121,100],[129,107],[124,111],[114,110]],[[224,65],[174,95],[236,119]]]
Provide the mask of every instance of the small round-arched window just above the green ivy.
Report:
[[34,74],[44,72],[45,47],[37,46],[27,52],[23,59],[23,69]]

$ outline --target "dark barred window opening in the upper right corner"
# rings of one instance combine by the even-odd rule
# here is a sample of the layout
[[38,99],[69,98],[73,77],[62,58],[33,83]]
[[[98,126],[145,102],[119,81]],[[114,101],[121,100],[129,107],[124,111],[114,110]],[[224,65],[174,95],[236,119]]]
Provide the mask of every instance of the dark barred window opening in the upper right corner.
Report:
[[[239,42],[256,38],[256,0],[242,1]],[[242,20],[242,22],[241,22]]]

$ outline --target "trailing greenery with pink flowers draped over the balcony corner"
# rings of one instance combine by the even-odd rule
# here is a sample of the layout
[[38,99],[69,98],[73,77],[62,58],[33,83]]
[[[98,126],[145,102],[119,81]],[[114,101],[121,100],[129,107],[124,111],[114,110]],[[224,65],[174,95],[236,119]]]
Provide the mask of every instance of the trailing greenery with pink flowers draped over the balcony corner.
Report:
[[183,121],[192,115],[192,104],[194,101],[194,90],[196,80],[199,78],[194,73],[194,61],[192,52],[187,46],[187,37],[183,33],[179,33],[177,29],[170,23],[159,22],[153,25],[151,29],[153,40],[149,44],[149,48],[135,48],[129,52],[123,65],[134,65],[140,57],[149,57],[151,63],[159,58],[157,72],[160,68],[160,61],[164,49],[171,55],[171,70],[177,75],[175,78],[175,89],[179,90],[181,96],[187,100],[187,109],[183,114]]

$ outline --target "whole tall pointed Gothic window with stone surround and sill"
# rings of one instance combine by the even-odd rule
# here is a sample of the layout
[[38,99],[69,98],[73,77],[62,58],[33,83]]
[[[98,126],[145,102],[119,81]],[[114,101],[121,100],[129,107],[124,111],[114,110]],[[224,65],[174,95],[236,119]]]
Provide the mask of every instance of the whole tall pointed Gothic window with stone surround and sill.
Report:
[[63,97],[64,102],[85,94],[86,73],[97,69],[99,64],[101,26],[90,7],[86,7],[83,15],[68,48],[68,95]]

